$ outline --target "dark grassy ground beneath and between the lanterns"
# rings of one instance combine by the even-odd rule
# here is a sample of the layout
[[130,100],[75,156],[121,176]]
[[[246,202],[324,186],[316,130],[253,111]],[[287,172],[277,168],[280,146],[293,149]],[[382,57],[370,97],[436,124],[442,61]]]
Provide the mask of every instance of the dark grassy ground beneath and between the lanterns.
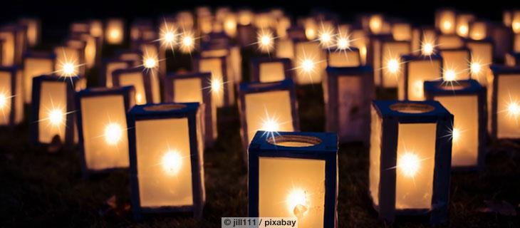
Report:
[[[247,56],[244,61],[247,61]],[[298,88],[303,131],[323,131],[321,86]],[[219,139],[204,153],[207,203],[204,217],[184,214],[135,222],[128,171],[81,178],[78,148],[48,154],[28,143],[27,121],[0,130],[0,227],[220,227],[221,217],[246,217],[247,169],[242,162],[236,106],[219,110]],[[340,145],[339,227],[379,227],[368,198],[368,148]],[[518,145],[490,145],[481,172],[454,172],[449,223],[452,227],[520,227],[520,217],[482,213],[484,200],[505,201],[518,212]],[[108,199],[115,199],[110,201]],[[112,204],[113,206],[109,206]],[[396,227],[428,227],[427,219],[399,217]]]

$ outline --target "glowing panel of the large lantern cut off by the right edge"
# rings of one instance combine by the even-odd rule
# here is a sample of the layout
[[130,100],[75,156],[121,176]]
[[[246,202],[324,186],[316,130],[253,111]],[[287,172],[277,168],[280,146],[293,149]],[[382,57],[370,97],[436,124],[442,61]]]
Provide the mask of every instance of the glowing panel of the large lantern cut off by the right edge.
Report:
[[500,75],[496,91],[496,137],[520,138],[520,74]]

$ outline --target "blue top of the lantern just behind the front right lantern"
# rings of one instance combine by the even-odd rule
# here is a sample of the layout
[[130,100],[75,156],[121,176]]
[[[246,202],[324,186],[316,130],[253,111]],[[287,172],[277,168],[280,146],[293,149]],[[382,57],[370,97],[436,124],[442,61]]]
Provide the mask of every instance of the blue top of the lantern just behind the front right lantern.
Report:
[[467,95],[481,92],[484,88],[473,79],[447,84],[445,81],[425,81],[425,92],[432,95]]

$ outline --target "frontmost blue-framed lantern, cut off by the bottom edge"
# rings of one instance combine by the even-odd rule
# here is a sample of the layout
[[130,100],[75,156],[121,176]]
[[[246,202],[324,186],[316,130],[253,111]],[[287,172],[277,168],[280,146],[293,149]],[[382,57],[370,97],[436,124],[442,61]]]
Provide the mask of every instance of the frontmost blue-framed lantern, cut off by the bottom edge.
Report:
[[248,181],[249,217],[296,217],[301,228],[338,226],[336,134],[258,131],[249,145]]

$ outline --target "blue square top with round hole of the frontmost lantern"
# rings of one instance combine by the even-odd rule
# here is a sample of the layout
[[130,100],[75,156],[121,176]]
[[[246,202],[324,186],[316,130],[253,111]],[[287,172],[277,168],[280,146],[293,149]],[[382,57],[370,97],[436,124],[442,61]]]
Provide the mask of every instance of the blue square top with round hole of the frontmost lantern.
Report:
[[[306,146],[276,145],[300,142]],[[324,158],[338,152],[336,133],[266,132],[259,130],[249,145],[250,156]]]

